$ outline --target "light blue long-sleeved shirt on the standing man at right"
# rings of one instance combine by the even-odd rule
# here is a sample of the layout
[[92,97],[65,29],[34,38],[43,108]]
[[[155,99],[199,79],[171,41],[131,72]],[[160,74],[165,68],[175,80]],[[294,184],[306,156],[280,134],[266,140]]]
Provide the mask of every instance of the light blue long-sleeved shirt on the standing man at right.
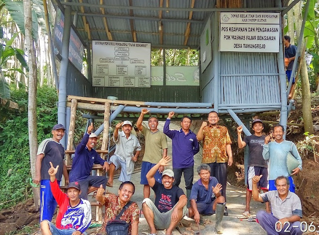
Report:
[[263,158],[269,160],[269,180],[275,180],[278,176],[289,176],[287,169],[287,154],[291,154],[298,160],[299,168],[302,170],[302,160],[296,145],[284,140],[280,143],[276,141],[263,145]]

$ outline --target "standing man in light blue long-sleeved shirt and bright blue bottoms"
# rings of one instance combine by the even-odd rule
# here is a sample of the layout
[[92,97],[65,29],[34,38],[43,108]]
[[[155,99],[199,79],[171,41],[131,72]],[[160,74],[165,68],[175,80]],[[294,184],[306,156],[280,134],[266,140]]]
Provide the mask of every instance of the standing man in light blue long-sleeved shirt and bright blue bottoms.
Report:
[[302,160],[296,145],[284,140],[285,129],[282,125],[274,126],[275,141],[270,141],[270,136],[266,136],[263,149],[263,158],[269,161],[269,191],[277,190],[275,179],[278,176],[286,176],[290,181],[290,192],[295,193],[295,184],[287,168],[287,155],[289,152],[298,160],[299,166],[293,170],[291,175],[297,175],[302,170]]

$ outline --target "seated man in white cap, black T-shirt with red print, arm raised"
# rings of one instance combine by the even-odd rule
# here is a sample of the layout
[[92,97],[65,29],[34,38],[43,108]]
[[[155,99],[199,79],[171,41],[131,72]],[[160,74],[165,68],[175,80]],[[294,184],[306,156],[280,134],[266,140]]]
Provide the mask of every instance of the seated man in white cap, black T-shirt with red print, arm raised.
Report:
[[157,182],[154,175],[159,168],[168,166],[170,157],[160,159],[146,175],[149,185],[155,192],[155,203],[146,198],[142,202],[143,214],[150,227],[150,234],[156,235],[156,230],[166,229],[166,235],[171,235],[172,230],[187,214],[187,198],[182,189],[173,186],[174,173],[166,169],[162,174],[162,184]]

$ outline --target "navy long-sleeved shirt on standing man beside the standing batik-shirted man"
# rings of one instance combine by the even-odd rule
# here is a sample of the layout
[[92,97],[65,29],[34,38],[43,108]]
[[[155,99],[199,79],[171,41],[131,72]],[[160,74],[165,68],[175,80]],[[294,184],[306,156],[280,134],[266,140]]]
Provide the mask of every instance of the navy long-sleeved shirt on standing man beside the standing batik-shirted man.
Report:
[[185,135],[180,129],[169,130],[170,119],[166,119],[163,132],[172,142],[173,168],[187,168],[194,166],[194,155],[199,152],[199,144],[195,133],[191,130]]

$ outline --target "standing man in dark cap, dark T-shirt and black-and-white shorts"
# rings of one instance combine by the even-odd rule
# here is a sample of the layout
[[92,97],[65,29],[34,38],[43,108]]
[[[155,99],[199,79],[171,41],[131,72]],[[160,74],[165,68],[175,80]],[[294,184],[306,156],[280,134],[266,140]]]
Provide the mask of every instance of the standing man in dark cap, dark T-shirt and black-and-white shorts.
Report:
[[[240,149],[249,147],[249,160],[247,170],[247,189],[246,189],[246,209],[243,216],[250,216],[250,201],[251,191],[253,190],[252,179],[254,176],[263,175],[260,179],[258,186],[264,191],[268,192],[268,169],[267,162],[263,158],[263,145],[265,143],[265,136],[262,131],[264,130],[264,123],[260,119],[255,119],[251,123],[254,134],[246,136],[244,141],[241,138],[243,127],[237,127],[238,147]],[[266,211],[270,213],[269,203],[266,203]]]

